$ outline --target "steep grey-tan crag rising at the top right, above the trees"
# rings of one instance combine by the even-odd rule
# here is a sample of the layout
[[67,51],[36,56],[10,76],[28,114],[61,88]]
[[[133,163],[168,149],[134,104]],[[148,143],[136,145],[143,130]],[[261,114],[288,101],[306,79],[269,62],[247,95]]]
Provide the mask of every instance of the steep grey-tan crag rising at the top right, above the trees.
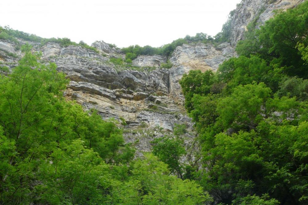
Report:
[[258,26],[265,23],[274,15],[274,10],[286,10],[304,2],[305,0],[244,0],[235,10],[231,22],[230,41],[236,46],[239,40],[244,39],[244,32],[249,22],[257,20]]

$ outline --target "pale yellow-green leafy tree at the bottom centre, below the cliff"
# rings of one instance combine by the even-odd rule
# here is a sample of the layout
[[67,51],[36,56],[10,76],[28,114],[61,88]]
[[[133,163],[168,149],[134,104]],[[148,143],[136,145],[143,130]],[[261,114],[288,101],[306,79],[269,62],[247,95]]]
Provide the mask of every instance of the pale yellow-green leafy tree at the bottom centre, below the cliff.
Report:
[[146,154],[144,160],[137,160],[132,172],[133,179],[140,182],[146,194],[143,204],[202,204],[212,201],[194,181],[170,175],[167,165],[153,155]]

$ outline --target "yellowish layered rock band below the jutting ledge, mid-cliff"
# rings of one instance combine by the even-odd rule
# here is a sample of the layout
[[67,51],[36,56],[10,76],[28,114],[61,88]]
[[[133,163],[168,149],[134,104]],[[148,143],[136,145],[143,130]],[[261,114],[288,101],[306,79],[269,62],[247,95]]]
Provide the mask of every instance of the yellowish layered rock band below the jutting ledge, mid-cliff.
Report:
[[95,108],[103,119],[123,117],[128,124],[126,127],[130,129],[138,128],[142,123],[149,129],[162,127],[169,131],[175,123],[185,123],[192,128],[188,117],[183,122],[176,119],[175,115],[183,115],[184,110],[167,96],[131,93],[125,89],[109,90],[87,82],[70,82],[65,96],[76,100],[86,110]]

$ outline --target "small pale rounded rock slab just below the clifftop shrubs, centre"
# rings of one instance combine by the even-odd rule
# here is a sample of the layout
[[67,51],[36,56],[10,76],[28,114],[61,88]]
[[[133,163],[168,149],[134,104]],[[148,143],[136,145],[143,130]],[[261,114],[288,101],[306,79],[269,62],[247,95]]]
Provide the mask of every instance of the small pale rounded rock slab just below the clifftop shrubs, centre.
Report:
[[133,60],[133,66],[138,67],[159,67],[165,62],[165,58],[160,55],[140,55]]

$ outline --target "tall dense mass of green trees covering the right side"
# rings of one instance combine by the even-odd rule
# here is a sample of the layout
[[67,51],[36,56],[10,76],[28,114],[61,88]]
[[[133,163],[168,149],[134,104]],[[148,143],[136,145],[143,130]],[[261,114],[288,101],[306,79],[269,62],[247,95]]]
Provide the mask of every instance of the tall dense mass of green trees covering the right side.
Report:
[[[249,29],[238,58],[180,84],[218,203],[308,203],[308,2]],[[198,167],[196,167],[198,169]]]

